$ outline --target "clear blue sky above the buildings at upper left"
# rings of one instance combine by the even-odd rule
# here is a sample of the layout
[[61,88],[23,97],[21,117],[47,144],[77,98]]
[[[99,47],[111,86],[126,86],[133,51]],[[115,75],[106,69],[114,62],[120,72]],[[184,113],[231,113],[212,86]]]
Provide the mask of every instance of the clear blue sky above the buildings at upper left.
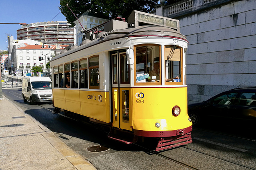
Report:
[[[60,0],[0,0],[0,23],[66,21],[58,6]],[[0,24],[0,50],[8,50],[7,35],[17,39],[16,31],[20,26]]]

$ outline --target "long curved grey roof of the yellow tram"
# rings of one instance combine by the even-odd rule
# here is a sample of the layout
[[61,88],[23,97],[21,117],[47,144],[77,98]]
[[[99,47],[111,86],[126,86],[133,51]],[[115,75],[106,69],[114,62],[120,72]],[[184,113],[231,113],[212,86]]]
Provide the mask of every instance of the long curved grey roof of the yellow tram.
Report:
[[[92,41],[89,40],[87,43],[80,45],[80,46],[73,46],[74,48],[66,51],[65,53],[61,53],[60,55],[53,57],[51,61],[64,57],[66,55],[70,55],[75,53],[76,51],[80,51],[82,49],[86,49],[93,45],[97,45],[106,41],[110,41],[113,39],[119,39],[124,37],[142,37],[142,36],[159,36],[159,37],[173,37],[173,38],[180,38],[187,41],[186,36],[182,35],[178,31],[168,28],[162,27],[157,25],[144,25],[138,26],[136,28],[126,28],[126,29],[117,29],[110,32],[101,32],[99,33],[98,37]],[[84,40],[86,41],[86,40]]]

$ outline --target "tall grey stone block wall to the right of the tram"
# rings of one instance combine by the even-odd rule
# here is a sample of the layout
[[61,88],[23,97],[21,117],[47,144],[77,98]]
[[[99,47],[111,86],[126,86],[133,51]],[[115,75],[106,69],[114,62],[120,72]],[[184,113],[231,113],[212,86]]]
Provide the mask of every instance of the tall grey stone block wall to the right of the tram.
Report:
[[[184,3],[188,2],[188,3]],[[186,35],[188,103],[236,87],[256,87],[256,0],[186,0],[164,16]],[[178,6],[178,3],[172,6]]]

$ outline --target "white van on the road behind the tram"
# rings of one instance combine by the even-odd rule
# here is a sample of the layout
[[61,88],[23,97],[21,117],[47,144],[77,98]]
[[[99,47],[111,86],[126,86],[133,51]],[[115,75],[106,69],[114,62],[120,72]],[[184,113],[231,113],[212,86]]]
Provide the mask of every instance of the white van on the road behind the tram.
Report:
[[25,77],[22,79],[22,97],[31,104],[52,102],[52,80],[50,77]]

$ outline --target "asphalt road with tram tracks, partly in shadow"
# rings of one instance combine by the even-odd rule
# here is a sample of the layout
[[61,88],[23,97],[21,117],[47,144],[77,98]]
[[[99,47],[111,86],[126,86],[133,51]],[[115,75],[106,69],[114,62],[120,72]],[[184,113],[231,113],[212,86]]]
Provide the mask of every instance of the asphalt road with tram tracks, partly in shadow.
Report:
[[[256,129],[238,131],[243,127],[218,124],[194,128],[193,143],[152,153],[135,144],[112,141],[107,133],[90,125],[52,114],[52,104],[24,103],[21,88],[3,88],[3,95],[48,127],[98,170],[256,170]],[[107,150],[87,150],[95,145]]]

